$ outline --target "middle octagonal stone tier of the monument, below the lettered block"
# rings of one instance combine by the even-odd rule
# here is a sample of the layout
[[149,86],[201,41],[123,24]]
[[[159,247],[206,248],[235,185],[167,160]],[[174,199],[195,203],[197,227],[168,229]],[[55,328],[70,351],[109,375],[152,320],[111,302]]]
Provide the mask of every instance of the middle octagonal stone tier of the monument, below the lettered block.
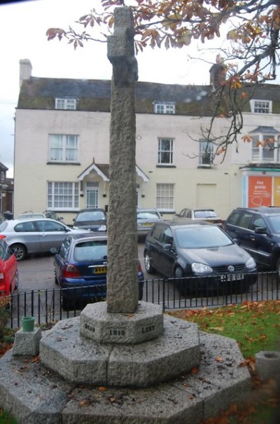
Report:
[[80,318],[57,322],[40,342],[40,361],[66,381],[148,387],[200,362],[197,325],[165,315],[162,335],[131,344],[97,343],[80,335]]

